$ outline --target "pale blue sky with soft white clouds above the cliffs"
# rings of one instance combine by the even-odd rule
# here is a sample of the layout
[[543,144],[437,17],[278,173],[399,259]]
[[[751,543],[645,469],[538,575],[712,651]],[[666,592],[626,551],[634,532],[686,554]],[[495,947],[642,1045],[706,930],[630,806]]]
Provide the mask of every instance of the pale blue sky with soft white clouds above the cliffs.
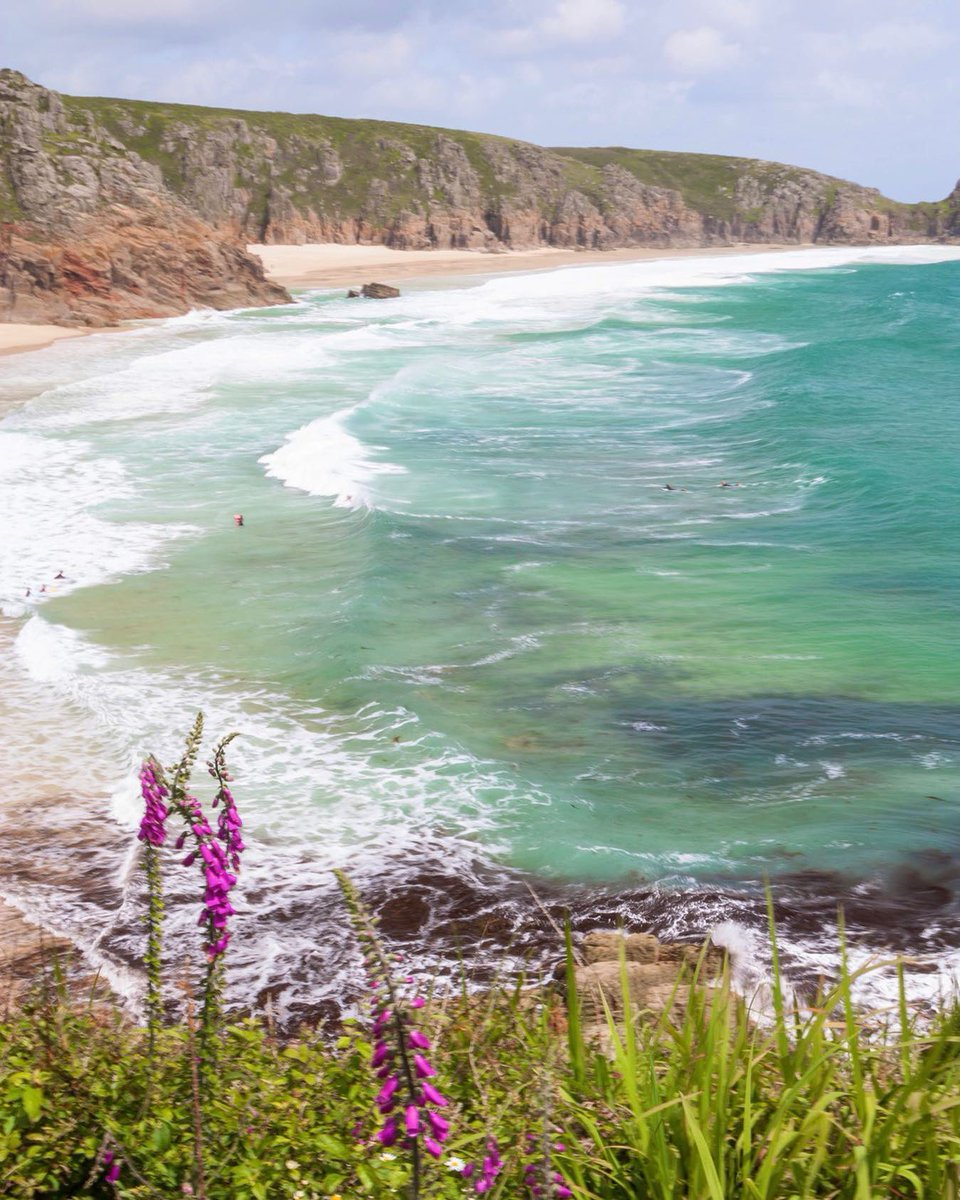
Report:
[[59,91],[745,155],[941,199],[960,0],[2,0]]

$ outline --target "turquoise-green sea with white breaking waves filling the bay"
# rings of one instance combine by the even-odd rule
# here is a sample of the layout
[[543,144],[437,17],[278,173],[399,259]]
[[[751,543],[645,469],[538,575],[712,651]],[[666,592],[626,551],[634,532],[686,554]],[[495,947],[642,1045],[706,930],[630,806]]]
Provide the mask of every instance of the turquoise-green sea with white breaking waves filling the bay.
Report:
[[235,979],[287,1012],[350,970],[334,865],[440,971],[542,952],[527,882],[748,953],[769,878],[798,968],[842,901],[943,986],[959,312],[960,251],[834,248],[2,360],[0,895],[136,990],[133,770],[203,708],[241,732]]

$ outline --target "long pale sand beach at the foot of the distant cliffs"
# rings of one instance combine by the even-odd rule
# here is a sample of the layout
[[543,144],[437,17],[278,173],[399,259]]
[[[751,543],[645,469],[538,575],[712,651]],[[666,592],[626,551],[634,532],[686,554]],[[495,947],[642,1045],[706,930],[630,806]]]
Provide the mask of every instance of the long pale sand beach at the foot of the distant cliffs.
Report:
[[263,260],[266,274],[290,288],[359,287],[437,275],[497,275],[500,271],[538,271],[584,263],[635,263],[656,258],[708,258],[718,254],[758,254],[774,250],[803,250],[791,245],[642,247],[625,250],[390,250],[388,246],[247,246]]

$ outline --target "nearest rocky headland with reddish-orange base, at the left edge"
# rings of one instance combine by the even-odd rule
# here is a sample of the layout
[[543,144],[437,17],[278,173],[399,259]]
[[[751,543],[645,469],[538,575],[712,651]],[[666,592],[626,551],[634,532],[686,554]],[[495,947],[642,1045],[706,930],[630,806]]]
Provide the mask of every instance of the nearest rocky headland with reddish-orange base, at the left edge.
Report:
[[155,163],[13,72],[0,72],[0,320],[110,325],[289,300]]

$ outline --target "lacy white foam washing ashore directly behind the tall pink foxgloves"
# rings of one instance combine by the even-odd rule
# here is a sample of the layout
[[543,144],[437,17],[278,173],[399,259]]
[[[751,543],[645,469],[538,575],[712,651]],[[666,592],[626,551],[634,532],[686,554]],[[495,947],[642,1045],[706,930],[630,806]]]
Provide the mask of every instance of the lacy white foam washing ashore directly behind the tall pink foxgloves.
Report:
[[[233,971],[247,995],[257,980],[280,979],[289,984],[288,1002],[316,1002],[342,990],[353,970],[348,955],[334,955],[322,977],[302,984],[306,990],[292,982],[302,979],[301,964],[316,954],[319,931],[326,928],[323,914],[335,910],[334,868],[348,868],[361,884],[400,871],[400,864],[430,856],[448,866],[458,863],[466,878],[472,863],[492,862],[505,851],[502,814],[550,803],[515,769],[475,758],[402,708],[367,704],[338,716],[230,678],[146,671],[40,616],[17,637],[14,660],[26,689],[23,697],[30,689],[43,695],[44,719],[50,712],[71,714],[88,734],[92,731],[95,744],[109,748],[100,766],[112,768],[114,776],[107,785],[100,781],[101,796],[113,794],[114,816],[131,830],[139,806],[134,768],[145,752],[172,761],[178,733],[197,707],[206,714],[211,737],[240,731],[232,758],[251,838],[239,889],[244,937]],[[46,767],[72,778],[83,762],[80,754],[64,766],[54,757]],[[60,820],[66,832],[72,820],[86,817],[61,814]],[[77,834],[71,836],[76,841]],[[115,876],[120,886],[130,883],[119,860]],[[0,892],[16,902],[16,880]],[[293,925],[288,906],[310,896],[317,912]],[[52,884],[35,912],[46,928],[82,946],[92,962],[106,961],[118,985],[136,995],[136,985],[122,979],[122,962],[102,949],[104,940],[118,936],[116,922],[136,929],[126,901],[112,913]],[[172,918],[173,936],[190,937],[192,910],[176,910]]]

